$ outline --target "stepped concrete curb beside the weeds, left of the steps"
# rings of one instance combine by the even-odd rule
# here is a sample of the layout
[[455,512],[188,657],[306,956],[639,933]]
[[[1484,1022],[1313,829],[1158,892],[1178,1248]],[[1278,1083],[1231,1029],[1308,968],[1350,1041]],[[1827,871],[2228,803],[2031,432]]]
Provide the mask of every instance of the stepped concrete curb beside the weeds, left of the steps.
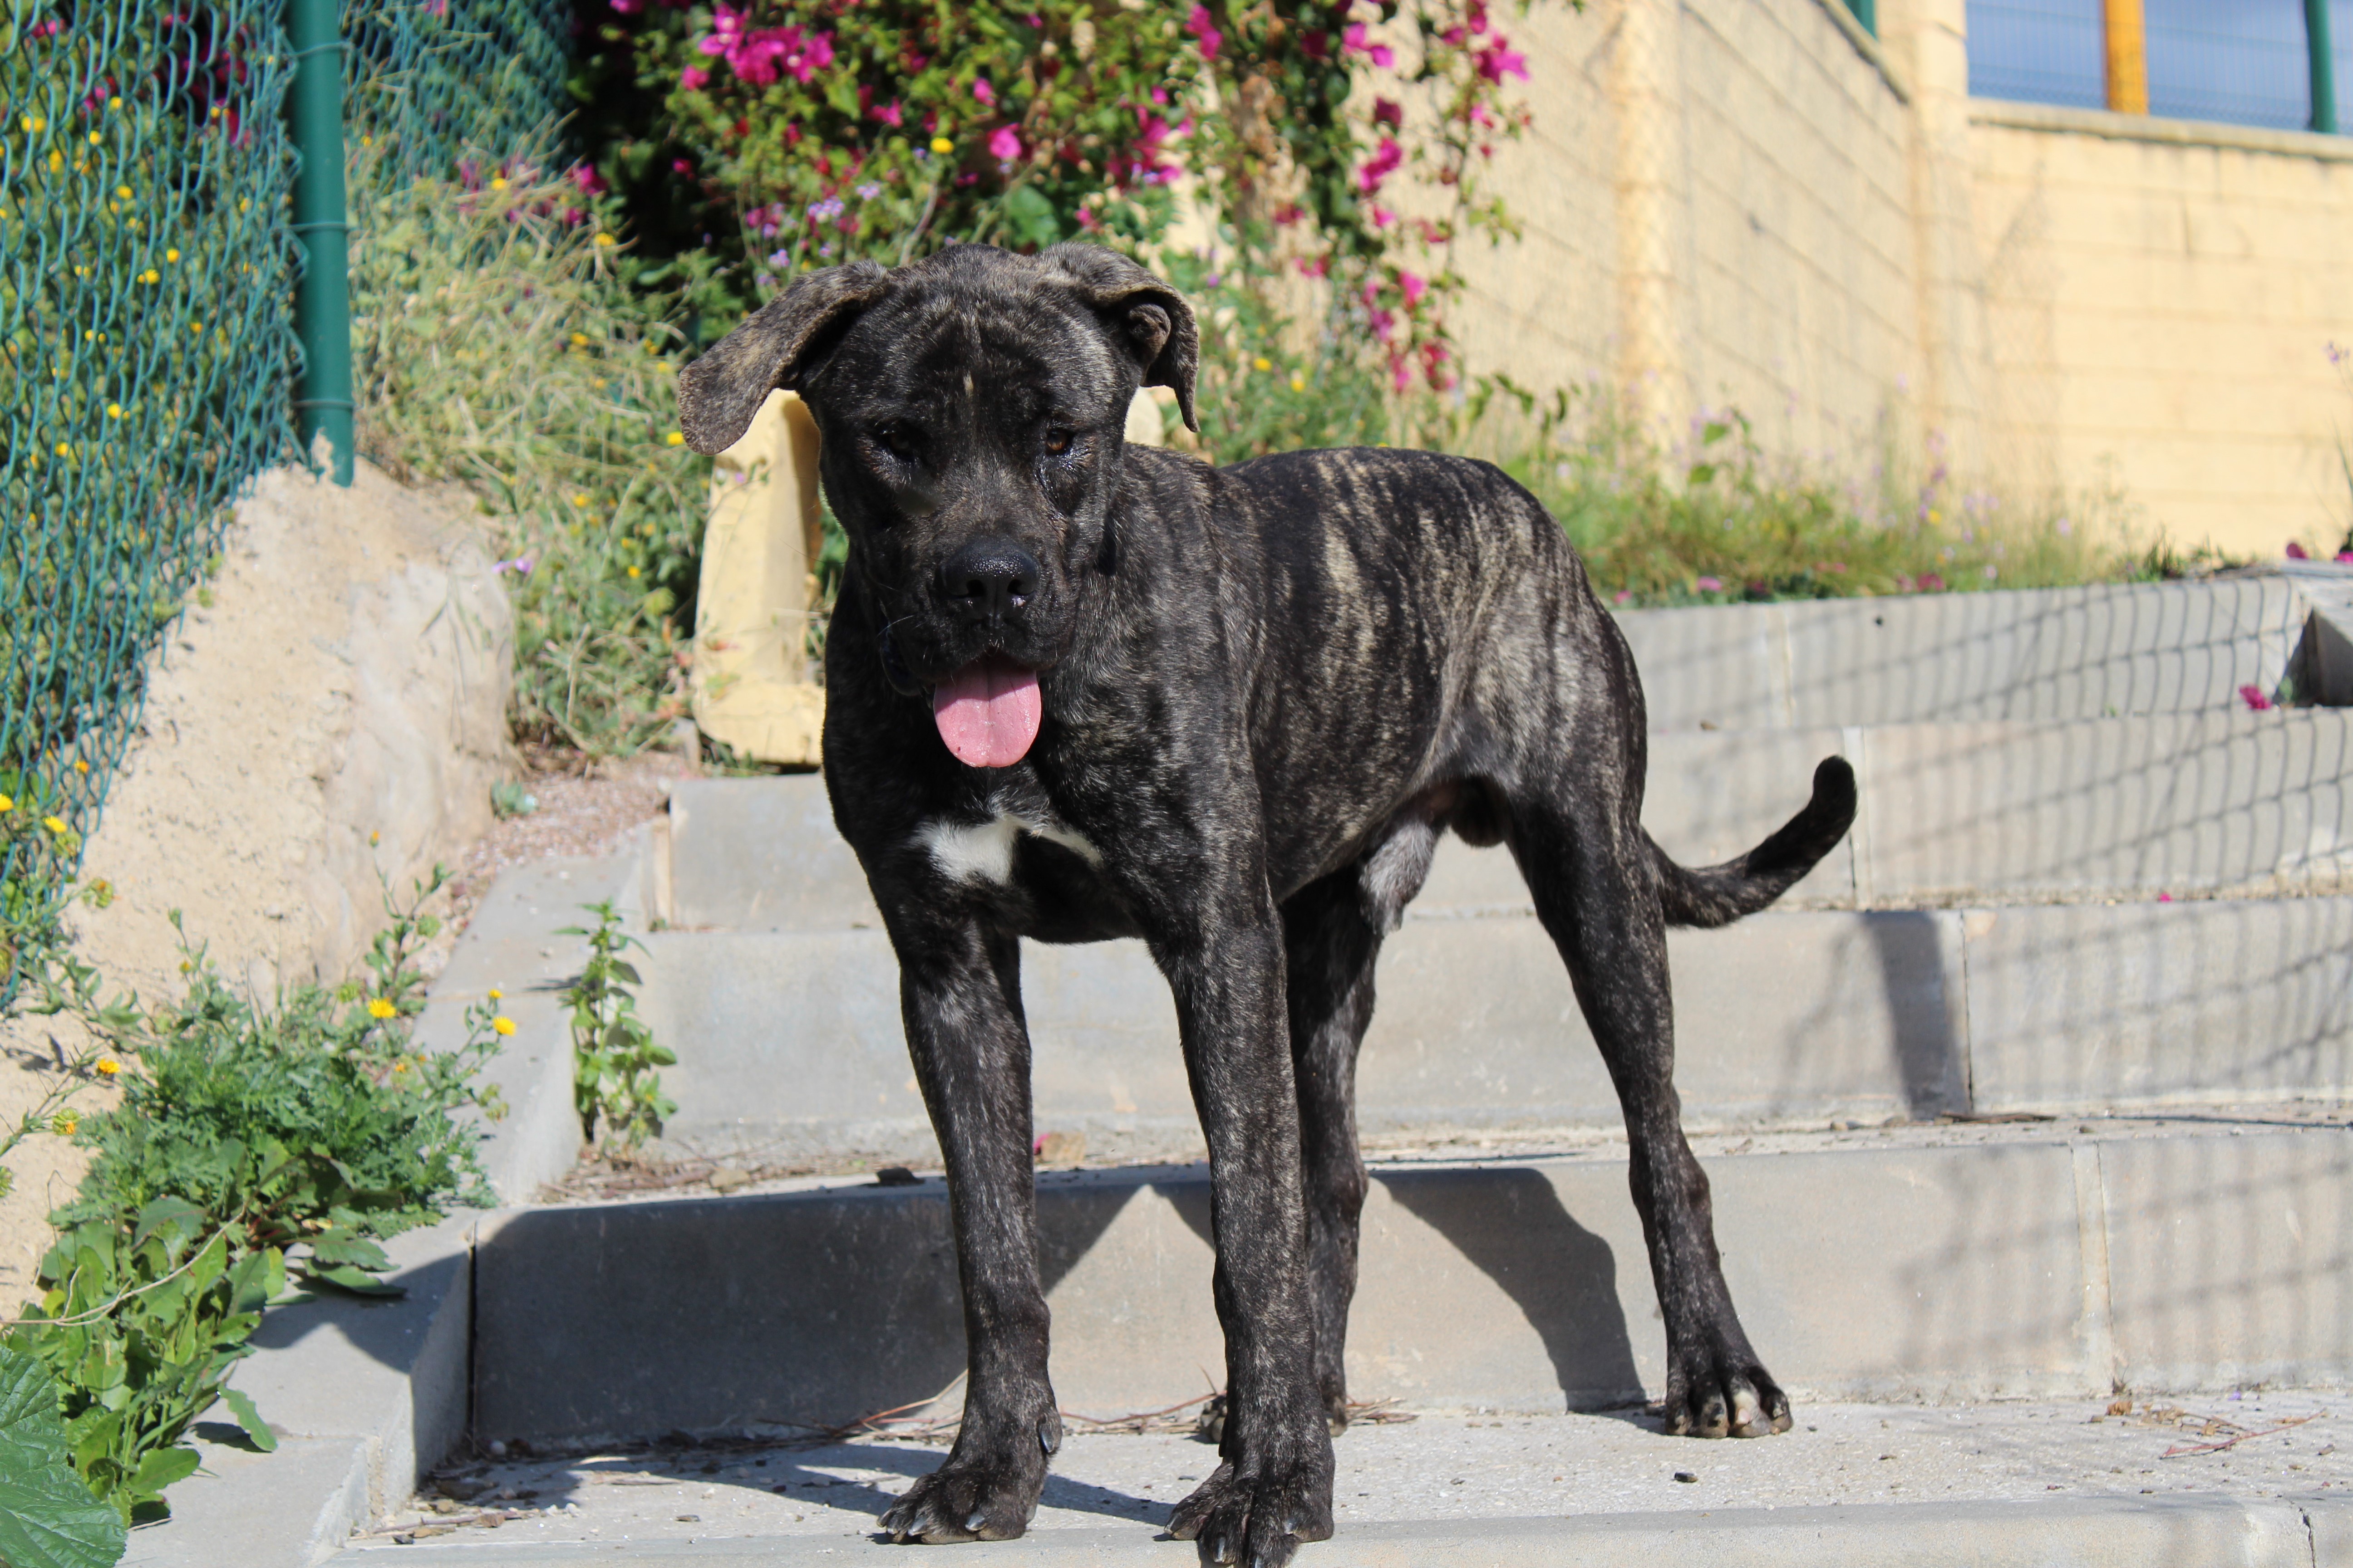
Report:
[[[576,907],[614,898],[645,929],[647,839],[602,860],[541,860],[504,875],[433,983],[416,1039],[464,1039],[464,1011],[492,987],[518,1020],[489,1070],[508,1119],[482,1140],[501,1199],[515,1201],[572,1168],[572,1051],[555,992],[579,964],[579,938],[555,933]],[[275,1453],[228,1439],[226,1415],[198,1422],[205,1467],[172,1488],[172,1519],[132,1535],[129,1568],[313,1568],[353,1528],[405,1500],[473,1418],[475,1241],[485,1215],[393,1237],[395,1300],[320,1295],[273,1307],[231,1387],[278,1432]]]

